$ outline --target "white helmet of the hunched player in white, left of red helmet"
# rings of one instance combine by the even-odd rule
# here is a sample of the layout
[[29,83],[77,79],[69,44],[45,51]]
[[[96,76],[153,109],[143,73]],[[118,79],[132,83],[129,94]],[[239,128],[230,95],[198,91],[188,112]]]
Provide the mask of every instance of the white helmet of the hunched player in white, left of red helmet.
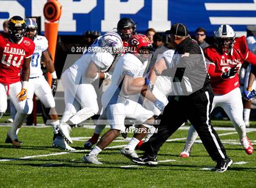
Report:
[[102,36],[101,47],[109,47],[112,49],[112,54],[116,54],[121,52],[121,48],[123,47],[123,41],[121,36],[116,32],[107,32]]

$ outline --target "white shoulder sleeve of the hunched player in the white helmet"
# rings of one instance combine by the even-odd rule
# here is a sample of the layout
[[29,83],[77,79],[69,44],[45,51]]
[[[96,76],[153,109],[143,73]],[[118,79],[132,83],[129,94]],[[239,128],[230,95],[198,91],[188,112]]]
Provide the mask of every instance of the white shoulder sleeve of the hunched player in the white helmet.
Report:
[[91,61],[100,69],[102,72],[105,72],[108,67],[112,64],[114,58],[110,53],[94,53]]

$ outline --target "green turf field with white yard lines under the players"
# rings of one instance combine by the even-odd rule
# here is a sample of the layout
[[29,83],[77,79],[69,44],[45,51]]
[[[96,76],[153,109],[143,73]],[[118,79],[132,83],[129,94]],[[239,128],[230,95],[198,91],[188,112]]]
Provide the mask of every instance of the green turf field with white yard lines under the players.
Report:
[[[229,121],[213,124],[230,126]],[[4,143],[9,129],[0,127],[0,187],[256,187],[255,153],[246,155],[235,130],[217,131],[234,164],[225,173],[215,173],[210,171],[215,163],[201,143],[194,144],[190,158],[178,156],[187,130],[174,133],[169,139],[177,139],[164,144],[158,166],[148,167],[137,166],[119,154],[127,143],[122,138],[98,156],[103,165],[83,164],[82,156],[88,153],[83,150],[87,140],[83,137],[91,136],[93,129],[73,129],[73,138],[82,137],[75,138],[77,141],[71,145],[77,152],[51,147],[52,129],[46,126],[24,126],[18,135],[24,144],[15,149]],[[247,135],[256,146],[255,132],[252,129]]]

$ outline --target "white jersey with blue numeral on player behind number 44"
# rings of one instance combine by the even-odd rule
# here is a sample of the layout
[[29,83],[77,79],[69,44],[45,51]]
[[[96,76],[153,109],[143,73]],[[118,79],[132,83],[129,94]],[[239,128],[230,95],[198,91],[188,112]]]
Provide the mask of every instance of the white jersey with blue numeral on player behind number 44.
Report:
[[30,78],[43,75],[41,70],[42,52],[48,49],[48,40],[44,36],[37,35],[34,39],[35,50],[30,62]]

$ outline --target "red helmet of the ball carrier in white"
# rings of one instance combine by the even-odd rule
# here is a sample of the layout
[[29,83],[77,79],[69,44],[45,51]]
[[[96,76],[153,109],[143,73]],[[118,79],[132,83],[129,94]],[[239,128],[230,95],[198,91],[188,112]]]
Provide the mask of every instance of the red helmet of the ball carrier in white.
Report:
[[147,61],[152,56],[153,46],[148,36],[132,35],[128,41],[128,45],[133,53],[141,61]]

